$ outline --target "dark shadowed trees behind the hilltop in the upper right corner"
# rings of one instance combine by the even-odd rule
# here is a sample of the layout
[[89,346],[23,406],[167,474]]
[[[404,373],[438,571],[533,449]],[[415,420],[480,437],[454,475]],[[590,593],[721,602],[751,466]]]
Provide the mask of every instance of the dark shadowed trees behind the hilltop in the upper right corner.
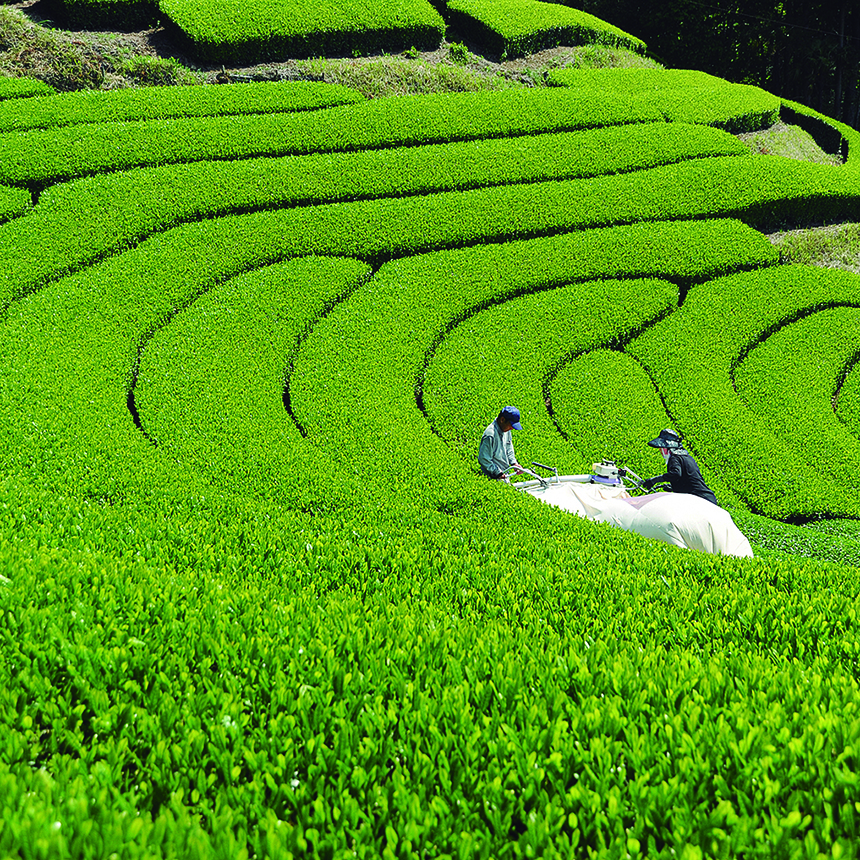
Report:
[[755,84],[860,127],[856,0],[565,0],[672,68]]

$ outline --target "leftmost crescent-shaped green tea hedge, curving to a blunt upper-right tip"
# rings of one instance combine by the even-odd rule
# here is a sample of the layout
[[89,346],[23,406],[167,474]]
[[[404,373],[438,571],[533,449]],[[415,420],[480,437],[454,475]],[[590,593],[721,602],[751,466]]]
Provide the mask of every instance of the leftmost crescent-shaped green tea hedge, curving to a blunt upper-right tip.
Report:
[[[244,493],[277,499],[290,472],[307,471],[310,457],[284,411],[291,362],[313,324],[369,271],[331,258],[255,269],[213,288],[155,332],[134,403],[160,453],[211,474],[216,485],[229,474]],[[295,496],[285,501],[296,505]]]

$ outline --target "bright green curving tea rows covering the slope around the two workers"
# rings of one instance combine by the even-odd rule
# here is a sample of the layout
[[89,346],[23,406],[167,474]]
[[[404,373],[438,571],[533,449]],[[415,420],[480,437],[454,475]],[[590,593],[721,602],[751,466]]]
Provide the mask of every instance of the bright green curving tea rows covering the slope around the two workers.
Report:
[[[860,277],[764,235],[860,138],[552,83],[0,101],[3,856],[860,853]],[[486,481],[506,403],[562,473],[676,427],[758,557]]]

